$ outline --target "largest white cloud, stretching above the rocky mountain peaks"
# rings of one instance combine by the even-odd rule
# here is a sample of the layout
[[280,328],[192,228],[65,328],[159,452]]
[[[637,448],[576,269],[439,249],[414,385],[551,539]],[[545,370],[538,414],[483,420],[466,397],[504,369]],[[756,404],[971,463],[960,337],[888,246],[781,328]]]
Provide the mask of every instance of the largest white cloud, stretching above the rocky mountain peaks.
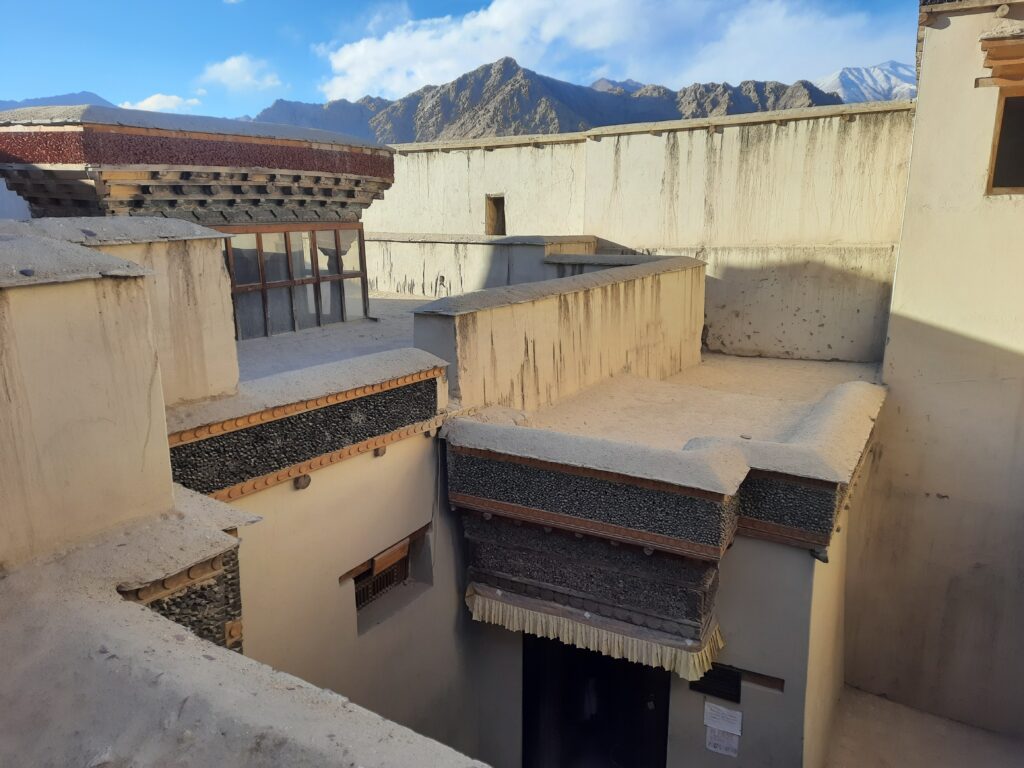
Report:
[[600,72],[674,88],[809,79],[912,55],[915,16],[893,31],[865,13],[819,8],[811,0],[492,0],[464,15],[411,20],[399,2],[382,6],[362,39],[315,50],[330,62],[321,90],[332,99],[403,96],[506,55],[555,77]]

